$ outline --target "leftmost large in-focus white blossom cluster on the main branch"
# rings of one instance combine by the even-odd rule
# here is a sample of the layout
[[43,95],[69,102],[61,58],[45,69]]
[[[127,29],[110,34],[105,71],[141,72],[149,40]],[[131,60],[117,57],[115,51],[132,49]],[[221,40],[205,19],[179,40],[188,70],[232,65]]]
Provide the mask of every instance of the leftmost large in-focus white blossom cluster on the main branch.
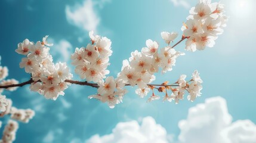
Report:
[[64,95],[68,83],[66,79],[71,79],[73,75],[69,73],[69,67],[66,63],[53,63],[53,57],[50,55],[52,43],[47,42],[48,36],[42,39],[42,42],[30,42],[25,39],[18,43],[16,52],[26,55],[20,62],[20,68],[24,68],[26,73],[32,75],[35,83],[30,85],[30,90],[44,95],[47,99],[56,100],[58,95]]

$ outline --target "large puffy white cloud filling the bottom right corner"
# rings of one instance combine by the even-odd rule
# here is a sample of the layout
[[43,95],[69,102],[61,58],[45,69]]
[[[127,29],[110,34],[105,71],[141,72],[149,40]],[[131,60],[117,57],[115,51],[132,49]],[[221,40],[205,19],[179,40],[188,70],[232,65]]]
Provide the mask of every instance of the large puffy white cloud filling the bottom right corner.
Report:
[[180,142],[256,142],[254,123],[248,120],[232,123],[226,100],[221,97],[208,98],[205,103],[190,108],[187,119],[181,120],[178,126]]

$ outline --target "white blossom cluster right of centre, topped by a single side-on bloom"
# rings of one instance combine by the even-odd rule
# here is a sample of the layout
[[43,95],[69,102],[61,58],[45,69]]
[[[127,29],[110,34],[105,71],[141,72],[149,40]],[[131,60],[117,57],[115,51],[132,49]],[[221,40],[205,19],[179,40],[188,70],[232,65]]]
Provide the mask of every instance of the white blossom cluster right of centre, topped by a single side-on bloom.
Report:
[[176,58],[184,55],[183,52],[175,51],[169,46],[169,43],[177,37],[177,33],[162,32],[161,35],[168,46],[161,48],[160,52],[158,52],[158,42],[149,39],[146,41],[147,47],[142,48],[141,52],[137,50],[132,52],[129,61],[123,61],[118,77],[126,84],[137,85],[139,88],[137,92],[149,91],[147,84],[156,79],[154,73],[157,73],[159,69],[162,69],[162,73],[171,71],[172,66],[175,66]]

